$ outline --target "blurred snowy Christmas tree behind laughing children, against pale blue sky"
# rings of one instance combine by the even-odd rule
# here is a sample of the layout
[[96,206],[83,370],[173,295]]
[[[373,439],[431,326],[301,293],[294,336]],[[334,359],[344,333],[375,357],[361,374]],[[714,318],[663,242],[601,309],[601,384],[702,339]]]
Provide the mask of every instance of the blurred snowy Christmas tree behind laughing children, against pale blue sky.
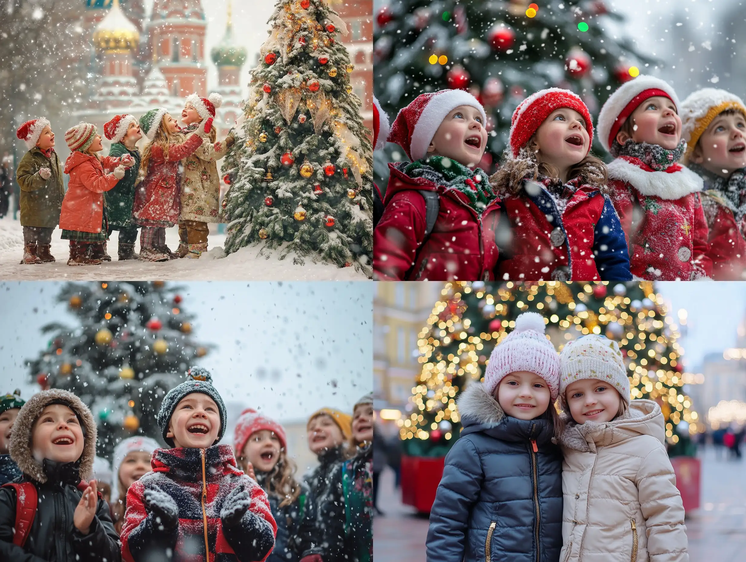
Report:
[[29,372],[43,390],[69,390],[88,405],[100,456],[133,434],[160,439],[160,401],[207,355],[177,291],[163,281],[69,283],[57,295],[78,325],[44,326],[47,349],[28,362]]

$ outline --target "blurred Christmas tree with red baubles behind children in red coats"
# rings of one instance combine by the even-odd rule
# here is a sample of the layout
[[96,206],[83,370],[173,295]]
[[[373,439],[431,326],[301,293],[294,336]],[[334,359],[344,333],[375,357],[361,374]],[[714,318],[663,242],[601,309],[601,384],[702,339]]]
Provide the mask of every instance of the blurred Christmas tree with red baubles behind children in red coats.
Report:
[[[622,17],[604,0],[392,0],[376,14],[375,95],[393,119],[421,93],[473,93],[487,113],[490,140],[480,167],[489,172],[526,96],[573,90],[597,114],[619,84],[653,63],[609,32],[607,19]],[[377,154],[379,186],[386,185],[386,161],[403,157],[395,146]]]

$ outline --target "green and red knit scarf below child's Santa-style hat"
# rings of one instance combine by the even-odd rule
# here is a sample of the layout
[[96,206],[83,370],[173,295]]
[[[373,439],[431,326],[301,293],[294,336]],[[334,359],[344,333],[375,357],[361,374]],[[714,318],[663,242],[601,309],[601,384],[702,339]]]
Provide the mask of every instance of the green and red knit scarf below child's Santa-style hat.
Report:
[[483,170],[468,169],[456,160],[445,156],[430,156],[415,160],[404,167],[404,173],[410,178],[425,178],[449,190],[463,193],[468,199],[469,206],[480,215],[496,197],[487,179],[487,174]]

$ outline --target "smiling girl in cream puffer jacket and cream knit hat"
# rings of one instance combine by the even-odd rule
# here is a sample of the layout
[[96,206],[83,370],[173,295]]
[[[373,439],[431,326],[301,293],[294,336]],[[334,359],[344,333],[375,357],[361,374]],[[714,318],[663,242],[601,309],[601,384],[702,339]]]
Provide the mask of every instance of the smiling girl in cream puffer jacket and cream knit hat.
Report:
[[560,560],[688,561],[659,405],[630,402],[621,352],[605,337],[568,343],[560,363],[566,413]]

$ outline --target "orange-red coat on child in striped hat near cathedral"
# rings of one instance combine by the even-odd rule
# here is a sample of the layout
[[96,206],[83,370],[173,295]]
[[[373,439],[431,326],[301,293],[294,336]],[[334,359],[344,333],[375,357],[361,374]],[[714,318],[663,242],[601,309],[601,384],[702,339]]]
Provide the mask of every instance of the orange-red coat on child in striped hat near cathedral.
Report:
[[65,173],[70,175],[60,210],[60,228],[79,232],[101,232],[104,219],[104,191],[119,181],[104,169],[119,166],[119,158],[103,156],[101,160],[78,150],[65,160]]

